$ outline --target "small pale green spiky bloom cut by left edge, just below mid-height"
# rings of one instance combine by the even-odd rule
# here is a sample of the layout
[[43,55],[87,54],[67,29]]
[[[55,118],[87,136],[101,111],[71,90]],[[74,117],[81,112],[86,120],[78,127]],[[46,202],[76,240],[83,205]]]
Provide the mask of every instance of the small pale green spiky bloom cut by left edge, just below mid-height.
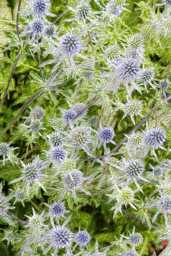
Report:
[[0,156],[3,157],[3,165],[5,165],[5,161],[11,160],[12,161],[12,156],[13,156],[13,151],[18,148],[18,147],[10,147],[10,143],[2,142],[0,143]]

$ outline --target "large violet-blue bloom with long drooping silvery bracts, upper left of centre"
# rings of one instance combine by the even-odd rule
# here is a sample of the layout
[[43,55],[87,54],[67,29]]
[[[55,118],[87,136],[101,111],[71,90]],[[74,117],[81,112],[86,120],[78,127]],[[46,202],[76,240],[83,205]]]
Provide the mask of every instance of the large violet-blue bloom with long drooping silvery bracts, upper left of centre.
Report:
[[43,63],[41,66],[44,67],[46,65],[55,63],[55,66],[51,70],[51,73],[54,73],[57,70],[58,66],[62,63],[62,61],[67,58],[70,61],[71,67],[75,70],[75,56],[77,55],[81,58],[87,58],[86,56],[80,54],[80,51],[83,49],[80,40],[80,36],[72,32],[63,35],[60,38],[59,43],[57,44],[57,49],[47,50],[45,52],[45,55],[52,54],[55,58]]

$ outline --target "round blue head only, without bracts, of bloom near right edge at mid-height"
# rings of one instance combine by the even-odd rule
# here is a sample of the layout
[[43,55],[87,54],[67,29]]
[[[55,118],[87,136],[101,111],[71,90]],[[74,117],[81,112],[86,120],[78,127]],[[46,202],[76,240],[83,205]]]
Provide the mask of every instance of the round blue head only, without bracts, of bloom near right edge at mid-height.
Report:
[[156,149],[158,147],[162,147],[163,143],[166,139],[166,131],[162,128],[152,128],[148,130],[145,134],[145,143]]

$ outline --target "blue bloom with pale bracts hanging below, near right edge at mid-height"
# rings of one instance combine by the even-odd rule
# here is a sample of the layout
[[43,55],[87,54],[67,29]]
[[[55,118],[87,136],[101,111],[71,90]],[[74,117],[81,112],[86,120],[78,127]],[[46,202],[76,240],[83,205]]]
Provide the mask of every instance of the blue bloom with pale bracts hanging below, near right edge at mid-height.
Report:
[[166,150],[162,145],[165,142],[166,139],[166,130],[162,128],[152,128],[149,129],[145,133],[145,145],[146,148],[144,150],[144,156],[146,156],[149,149],[152,148],[153,154],[155,158],[158,161],[157,155],[155,153],[155,150],[157,148],[161,148],[162,150]]

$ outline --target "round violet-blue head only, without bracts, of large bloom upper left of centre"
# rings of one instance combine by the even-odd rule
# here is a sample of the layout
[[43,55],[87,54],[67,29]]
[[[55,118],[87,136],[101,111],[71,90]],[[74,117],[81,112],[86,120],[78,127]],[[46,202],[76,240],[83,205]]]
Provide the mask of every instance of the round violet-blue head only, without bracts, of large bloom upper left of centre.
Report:
[[69,57],[73,57],[80,51],[80,41],[78,36],[73,33],[67,33],[62,36],[59,42],[59,50]]

